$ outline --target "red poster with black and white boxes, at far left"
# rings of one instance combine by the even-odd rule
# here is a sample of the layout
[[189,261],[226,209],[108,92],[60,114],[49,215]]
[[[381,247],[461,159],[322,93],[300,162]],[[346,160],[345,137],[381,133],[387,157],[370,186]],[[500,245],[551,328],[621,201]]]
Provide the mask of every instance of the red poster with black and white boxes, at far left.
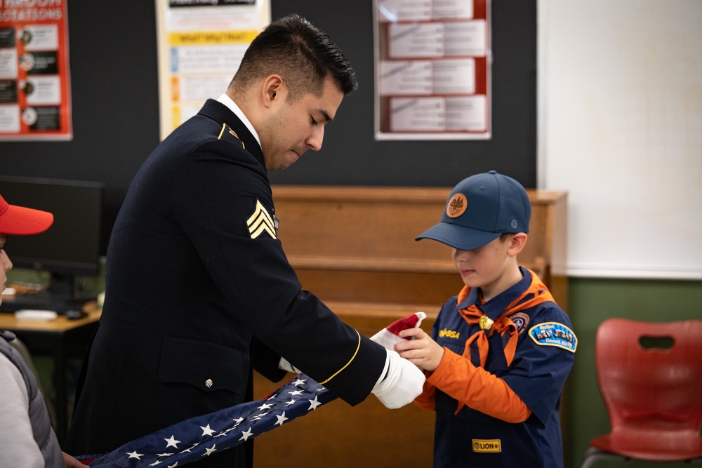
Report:
[[71,140],[66,0],[0,0],[0,140]]

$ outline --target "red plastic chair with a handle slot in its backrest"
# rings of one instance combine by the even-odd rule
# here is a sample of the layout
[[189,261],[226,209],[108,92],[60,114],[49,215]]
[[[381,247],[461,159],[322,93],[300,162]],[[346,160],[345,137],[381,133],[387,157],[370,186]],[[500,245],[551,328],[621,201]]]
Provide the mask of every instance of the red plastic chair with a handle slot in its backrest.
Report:
[[581,468],[604,458],[702,462],[702,321],[608,319],[595,366],[611,432],[590,441]]

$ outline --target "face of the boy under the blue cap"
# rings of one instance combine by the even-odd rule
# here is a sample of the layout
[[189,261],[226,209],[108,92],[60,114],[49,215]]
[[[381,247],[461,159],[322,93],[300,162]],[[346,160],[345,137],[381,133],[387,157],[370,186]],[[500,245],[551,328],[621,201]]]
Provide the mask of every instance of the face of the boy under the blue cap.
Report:
[[451,248],[453,263],[456,265],[465,286],[481,288],[484,298],[491,298],[513,286],[516,265],[515,256],[510,253],[513,236],[504,241],[500,237],[475,250]]

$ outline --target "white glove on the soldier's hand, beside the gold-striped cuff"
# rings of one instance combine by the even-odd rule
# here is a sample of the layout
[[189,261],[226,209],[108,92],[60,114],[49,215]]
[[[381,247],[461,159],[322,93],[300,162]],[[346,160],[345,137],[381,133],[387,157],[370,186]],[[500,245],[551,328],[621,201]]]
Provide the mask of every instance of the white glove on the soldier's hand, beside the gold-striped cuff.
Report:
[[413,363],[401,358],[395,351],[387,351],[387,370],[371,392],[385,407],[395,409],[416,399],[422,393],[425,379],[424,373]]

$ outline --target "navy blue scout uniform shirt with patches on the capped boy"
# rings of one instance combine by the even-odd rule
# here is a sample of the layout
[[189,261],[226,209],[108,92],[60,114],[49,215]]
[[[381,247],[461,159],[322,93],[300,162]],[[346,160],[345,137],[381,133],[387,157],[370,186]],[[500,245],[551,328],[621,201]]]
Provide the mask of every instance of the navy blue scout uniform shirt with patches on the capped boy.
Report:
[[[479,305],[486,316],[496,320],[505,307],[529,288],[532,273],[524,267],[520,270],[522,281]],[[439,345],[459,355],[463,354],[468,338],[480,328],[466,323],[458,310],[479,304],[478,291],[470,290],[460,304],[457,297],[451,297],[432,328],[432,337]],[[505,361],[501,336],[494,334],[489,339],[490,352],[484,369],[503,379],[533,413],[527,421],[517,424],[498,420],[470,406],[456,414],[458,402],[437,387],[434,468],[563,466],[559,407],[577,343],[571,321],[555,302],[543,302],[510,318],[519,333],[512,365]],[[548,327],[567,330],[564,345],[546,344],[539,330]],[[441,330],[456,333],[442,334]]]

